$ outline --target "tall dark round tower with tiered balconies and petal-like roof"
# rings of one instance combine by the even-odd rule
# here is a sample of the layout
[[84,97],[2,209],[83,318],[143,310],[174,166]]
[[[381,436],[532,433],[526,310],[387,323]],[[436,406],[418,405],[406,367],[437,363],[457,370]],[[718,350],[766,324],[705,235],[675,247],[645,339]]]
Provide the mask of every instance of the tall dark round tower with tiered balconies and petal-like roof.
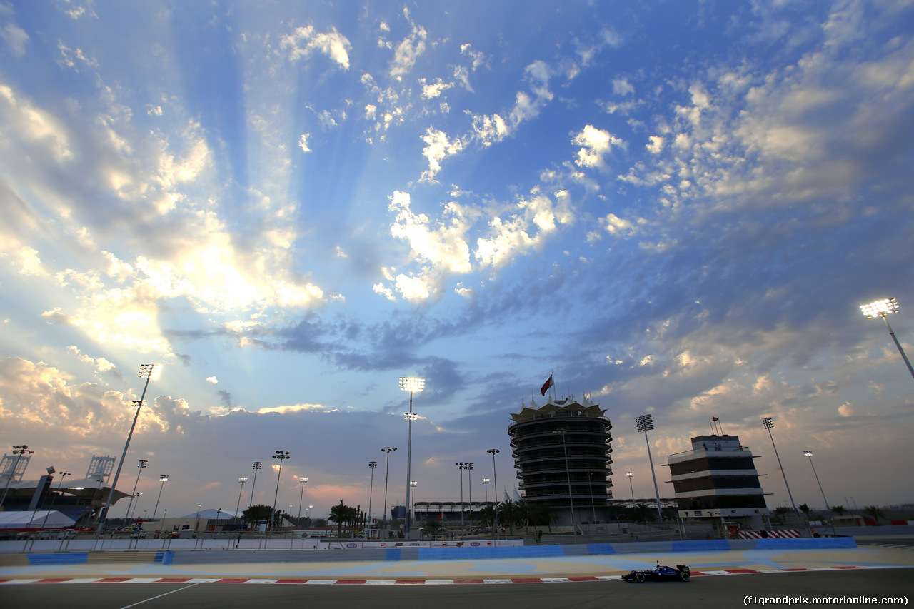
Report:
[[[511,415],[511,455],[524,498],[546,504],[558,524],[609,520],[612,429],[606,411],[587,398],[530,401]],[[561,432],[561,433],[558,433]]]

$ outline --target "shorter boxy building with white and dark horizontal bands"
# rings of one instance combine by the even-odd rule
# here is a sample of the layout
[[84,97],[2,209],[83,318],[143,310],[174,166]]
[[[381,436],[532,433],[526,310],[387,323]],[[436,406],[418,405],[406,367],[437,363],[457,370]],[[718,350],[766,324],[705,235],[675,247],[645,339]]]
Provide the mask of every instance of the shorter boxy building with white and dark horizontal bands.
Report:
[[753,455],[736,435],[698,435],[692,450],[670,454],[679,518],[710,518],[763,529],[771,512],[765,505]]

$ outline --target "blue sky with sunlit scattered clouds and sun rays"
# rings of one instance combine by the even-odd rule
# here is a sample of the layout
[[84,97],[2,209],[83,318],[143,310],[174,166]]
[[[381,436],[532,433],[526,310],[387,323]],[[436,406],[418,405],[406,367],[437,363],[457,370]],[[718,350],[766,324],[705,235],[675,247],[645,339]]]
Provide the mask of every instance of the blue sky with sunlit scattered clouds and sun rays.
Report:
[[717,416],[770,508],[772,438],[798,505],[804,450],[830,505],[914,502],[914,379],[859,310],[897,298],[914,355],[912,161],[910,0],[0,0],[0,445],[120,458],[156,363],[141,512],[379,518],[399,377],[447,501],[511,494],[552,374],[615,497],[653,497],[648,443],[672,497]]

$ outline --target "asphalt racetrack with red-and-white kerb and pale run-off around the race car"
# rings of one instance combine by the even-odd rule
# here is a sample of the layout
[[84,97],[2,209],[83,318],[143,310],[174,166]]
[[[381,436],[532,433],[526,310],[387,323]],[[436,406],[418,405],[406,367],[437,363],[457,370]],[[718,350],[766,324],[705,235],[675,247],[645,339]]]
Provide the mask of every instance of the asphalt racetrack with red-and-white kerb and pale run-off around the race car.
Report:
[[[483,609],[522,604],[524,609],[537,609],[619,603],[626,607],[745,606],[747,596],[807,601],[826,595],[904,601],[914,597],[914,549],[891,543],[829,550],[646,552],[466,561],[358,561],[341,556],[334,561],[245,562],[241,561],[243,552],[235,554],[234,562],[206,562],[207,554],[199,552],[195,558],[200,562],[194,564],[147,561],[8,566],[0,569],[0,604],[92,609],[267,605],[278,609],[302,604],[373,609],[431,604],[435,609]],[[690,565],[692,582],[620,581],[623,573],[650,568],[656,561]],[[802,600],[795,604],[802,604]]]

